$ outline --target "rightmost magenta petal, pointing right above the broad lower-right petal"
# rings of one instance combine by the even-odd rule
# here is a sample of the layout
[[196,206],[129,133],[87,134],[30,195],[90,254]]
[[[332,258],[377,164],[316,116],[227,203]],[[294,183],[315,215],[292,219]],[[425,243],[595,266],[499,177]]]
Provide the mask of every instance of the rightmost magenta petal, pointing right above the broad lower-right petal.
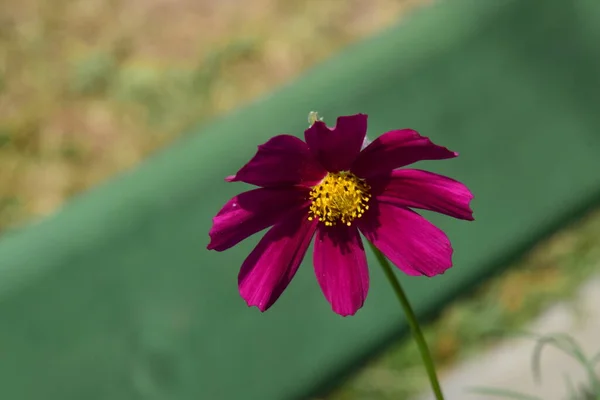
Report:
[[473,194],[454,179],[418,169],[399,169],[369,184],[377,201],[473,220],[469,206]]

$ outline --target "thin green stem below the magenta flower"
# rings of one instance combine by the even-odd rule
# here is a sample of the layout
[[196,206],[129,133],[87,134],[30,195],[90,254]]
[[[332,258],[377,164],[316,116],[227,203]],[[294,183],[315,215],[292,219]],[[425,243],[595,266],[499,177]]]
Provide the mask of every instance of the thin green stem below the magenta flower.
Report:
[[427,346],[427,342],[425,341],[425,337],[423,336],[423,332],[421,331],[421,327],[419,326],[419,321],[417,320],[415,312],[408,301],[408,297],[406,297],[406,293],[404,292],[404,289],[402,289],[400,281],[394,273],[394,270],[388,259],[371,243],[369,243],[369,245],[375,253],[377,261],[379,261],[379,264],[381,264],[383,272],[385,272],[385,276],[388,278],[388,281],[390,281],[390,284],[396,293],[396,297],[398,297],[398,300],[400,301],[400,305],[402,306],[402,310],[406,315],[408,325],[410,326],[415,342],[417,342],[419,352],[421,353],[421,359],[423,360],[423,364],[427,370],[427,375],[429,376],[429,382],[431,383],[431,388],[433,389],[435,398],[437,400],[444,400],[444,395],[442,394],[442,388],[437,378],[431,352],[429,351],[429,347]]

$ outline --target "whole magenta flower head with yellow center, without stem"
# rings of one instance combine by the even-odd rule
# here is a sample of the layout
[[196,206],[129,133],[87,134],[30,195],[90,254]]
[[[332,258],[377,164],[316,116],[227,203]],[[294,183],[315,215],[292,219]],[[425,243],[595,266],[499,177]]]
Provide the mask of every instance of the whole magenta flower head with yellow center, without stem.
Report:
[[445,176],[399,168],[458,154],[411,129],[384,133],[366,145],[365,114],[339,117],[334,128],[317,118],[311,122],[306,142],[275,136],[226,178],[259,188],[223,206],[213,219],[208,249],[229,249],[270,227],[239,272],[246,303],[261,311],[271,307],[313,236],[317,281],[333,311],[343,316],[355,314],[369,290],[359,232],[408,275],[434,276],[450,268],[448,237],[412,209],[473,220],[473,195]]

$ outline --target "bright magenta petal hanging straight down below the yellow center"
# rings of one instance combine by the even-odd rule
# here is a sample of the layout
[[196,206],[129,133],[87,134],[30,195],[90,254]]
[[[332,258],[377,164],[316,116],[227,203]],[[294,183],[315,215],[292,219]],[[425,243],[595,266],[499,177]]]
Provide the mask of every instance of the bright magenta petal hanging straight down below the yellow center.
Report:
[[317,230],[314,250],[317,280],[336,313],[354,315],[369,291],[369,270],[358,229],[354,226]]

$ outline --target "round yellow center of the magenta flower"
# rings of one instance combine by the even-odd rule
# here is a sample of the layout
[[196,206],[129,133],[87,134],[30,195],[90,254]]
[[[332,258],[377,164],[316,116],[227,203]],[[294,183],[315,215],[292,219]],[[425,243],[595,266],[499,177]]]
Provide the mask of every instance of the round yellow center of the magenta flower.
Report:
[[339,221],[350,226],[369,209],[371,187],[351,172],[329,173],[310,191],[308,220],[319,218],[327,226]]

